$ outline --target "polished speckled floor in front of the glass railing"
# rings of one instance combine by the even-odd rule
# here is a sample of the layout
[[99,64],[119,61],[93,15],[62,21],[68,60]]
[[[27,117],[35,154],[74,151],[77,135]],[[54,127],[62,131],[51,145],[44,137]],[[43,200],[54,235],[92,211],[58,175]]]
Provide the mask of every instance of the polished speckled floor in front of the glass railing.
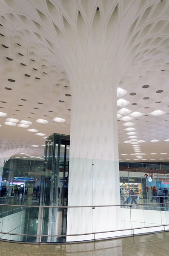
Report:
[[0,242],[0,256],[162,256],[169,255],[169,232],[95,243],[35,245]]

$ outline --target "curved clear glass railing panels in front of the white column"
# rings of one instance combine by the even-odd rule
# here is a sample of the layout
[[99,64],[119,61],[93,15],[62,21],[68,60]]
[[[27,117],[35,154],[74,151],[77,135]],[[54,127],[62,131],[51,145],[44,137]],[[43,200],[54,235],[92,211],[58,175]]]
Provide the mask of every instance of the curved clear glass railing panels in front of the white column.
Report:
[[1,239],[69,242],[168,230],[167,163],[64,157],[0,163]]

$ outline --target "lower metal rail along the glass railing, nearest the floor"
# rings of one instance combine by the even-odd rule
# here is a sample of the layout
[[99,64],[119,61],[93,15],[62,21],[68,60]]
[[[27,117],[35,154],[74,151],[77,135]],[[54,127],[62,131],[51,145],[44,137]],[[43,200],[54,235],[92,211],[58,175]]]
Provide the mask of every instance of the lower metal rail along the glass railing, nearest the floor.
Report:
[[[93,232],[93,233],[82,233],[82,234],[70,234],[70,235],[30,235],[30,234],[17,234],[17,233],[6,233],[6,232],[0,232],[0,234],[4,235],[14,235],[14,236],[88,236],[88,235],[95,235],[95,234],[102,234],[102,233],[111,233],[111,232],[120,232],[120,231],[128,231],[128,230],[137,230],[137,229],[143,229],[143,228],[151,228],[151,227],[165,227],[169,226],[169,224],[163,224],[163,225],[156,225],[156,226],[149,226],[149,227],[135,227],[135,228],[128,228],[128,229],[122,229],[122,230],[110,230],[110,231],[100,231],[100,232]],[[164,228],[165,231],[165,228]]]

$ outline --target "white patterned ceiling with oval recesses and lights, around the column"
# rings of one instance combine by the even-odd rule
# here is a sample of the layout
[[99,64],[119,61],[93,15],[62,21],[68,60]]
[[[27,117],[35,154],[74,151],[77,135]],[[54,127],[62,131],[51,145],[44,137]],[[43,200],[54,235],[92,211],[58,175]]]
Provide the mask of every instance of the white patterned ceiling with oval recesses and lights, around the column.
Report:
[[[97,6],[100,20],[95,20]],[[169,142],[165,141],[169,140],[168,0],[0,0],[0,11],[0,112],[7,113],[0,117],[0,157],[20,153],[43,156],[43,137],[54,132],[70,134],[69,95],[73,88],[69,80],[76,86],[75,71],[70,70],[71,67],[75,70],[75,66],[78,70],[82,63],[77,63],[74,39],[69,37],[68,27],[74,29],[76,43],[79,40],[85,49],[86,42],[92,40],[90,36],[87,38],[85,27],[95,33],[97,26],[93,29],[91,24],[97,25],[97,21],[102,22],[103,28],[110,29],[106,44],[110,44],[113,29],[117,29],[117,25],[119,29],[117,52],[114,41],[109,47],[111,54],[107,51],[108,64],[117,56],[114,70],[120,67],[116,72],[117,113],[121,115],[118,116],[119,159],[169,159]],[[83,32],[79,23],[84,23]],[[78,47],[76,53],[82,60],[83,52],[78,52]],[[103,61],[104,50],[100,52],[103,54],[100,61]],[[86,53],[90,54],[92,56],[92,47]],[[143,88],[144,85],[149,87]],[[163,92],[157,93],[158,90]],[[149,99],[143,99],[145,97]],[[128,111],[125,113],[123,108]],[[66,121],[53,122],[56,117]],[[4,124],[7,118],[18,119],[17,125],[22,120],[32,124],[28,128],[9,126]],[[38,123],[37,119],[48,123]],[[126,128],[135,130],[126,131]],[[38,136],[28,129],[46,135]],[[127,134],[129,132],[135,134]]]

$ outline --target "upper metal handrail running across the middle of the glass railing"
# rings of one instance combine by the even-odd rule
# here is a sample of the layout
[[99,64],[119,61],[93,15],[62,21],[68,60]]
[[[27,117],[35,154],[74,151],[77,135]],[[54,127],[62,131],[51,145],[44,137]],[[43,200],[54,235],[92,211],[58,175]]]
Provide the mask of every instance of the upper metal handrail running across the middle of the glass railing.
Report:
[[[113,205],[85,205],[85,206],[43,206],[43,205],[19,205],[19,204],[0,204],[0,206],[14,206],[14,207],[38,207],[38,208],[96,208],[96,207],[117,207],[117,206],[139,206],[139,205],[155,205],[160,203],[147,203],[147,204],[113,204]],[[169,204],[163,202],[163,204]]]

